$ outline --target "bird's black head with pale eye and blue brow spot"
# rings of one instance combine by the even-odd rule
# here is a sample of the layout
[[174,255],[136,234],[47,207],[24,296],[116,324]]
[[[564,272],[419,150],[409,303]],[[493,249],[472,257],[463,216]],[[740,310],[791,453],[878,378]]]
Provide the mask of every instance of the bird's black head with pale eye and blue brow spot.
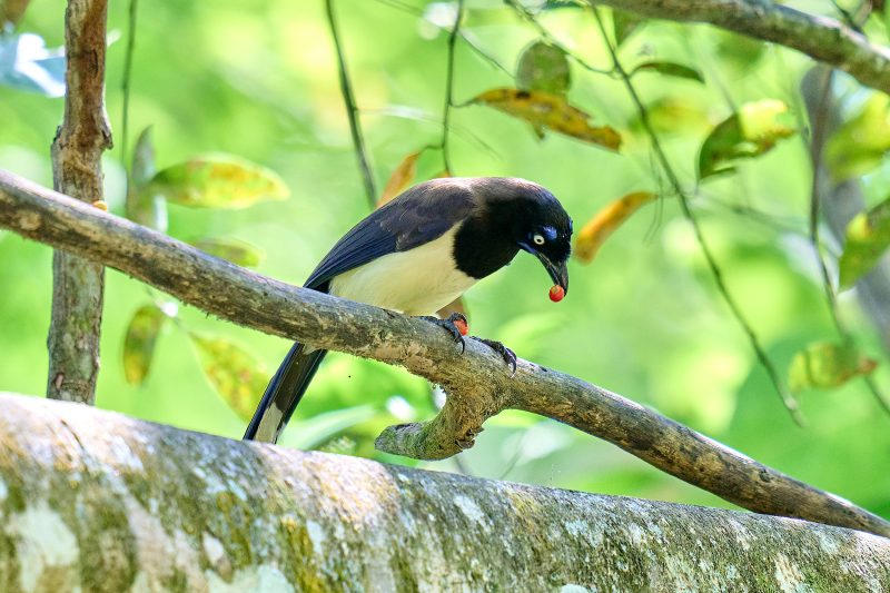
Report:
[[572,219],[550,191],[538,186],[536,194],[535,199],[523,205],[515,220],[516,245],[537,257],[553,281],[567,294]]

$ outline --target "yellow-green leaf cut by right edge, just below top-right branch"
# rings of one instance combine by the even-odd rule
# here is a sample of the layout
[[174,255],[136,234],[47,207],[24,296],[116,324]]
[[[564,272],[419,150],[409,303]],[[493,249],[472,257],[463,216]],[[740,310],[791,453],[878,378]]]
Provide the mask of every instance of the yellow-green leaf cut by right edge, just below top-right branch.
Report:
[[890,97],[873,93],[825,144],[825,165],[835,181],[878,167],[890,150]]

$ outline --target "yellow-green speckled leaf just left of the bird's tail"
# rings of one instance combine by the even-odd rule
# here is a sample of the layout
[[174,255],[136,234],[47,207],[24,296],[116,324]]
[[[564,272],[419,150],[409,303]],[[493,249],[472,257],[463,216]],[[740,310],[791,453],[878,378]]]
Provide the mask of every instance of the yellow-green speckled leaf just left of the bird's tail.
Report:
[[221,337],[189,334],[210,385],[244,419],[249,419],[268,384],[264,366],[237,344]]

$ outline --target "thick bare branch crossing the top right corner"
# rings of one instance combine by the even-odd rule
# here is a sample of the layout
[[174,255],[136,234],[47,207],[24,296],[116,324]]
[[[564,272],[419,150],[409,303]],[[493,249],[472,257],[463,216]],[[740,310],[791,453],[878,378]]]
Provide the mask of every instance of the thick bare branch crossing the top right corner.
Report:
[[708,22],[746,37],[773,41],[849,73],[867,87],[890,92],[890,49],[828,17],[767,0],[596,0],[656,19]]

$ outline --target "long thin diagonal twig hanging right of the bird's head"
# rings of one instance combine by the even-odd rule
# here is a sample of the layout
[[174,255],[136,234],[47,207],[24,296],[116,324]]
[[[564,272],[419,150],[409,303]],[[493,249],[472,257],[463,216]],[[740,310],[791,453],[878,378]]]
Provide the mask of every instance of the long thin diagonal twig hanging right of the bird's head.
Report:
[[791,417],[794,419],[795,423],[798,423],[798,425],[802,426],[803,418],[800,415],[798,403],[797,401],[794,401],[794,398],[785,388],[782,382],[782,377],[779,374],[779,370],[775,368],[775,365],[773,365],[772,360],[770,360],[769,356],[767,356],[767,350],[760,344],[760,339],[754,333],[754,329],[748,323],[744,315],[742,314],[741,308],[739,308],[739,304],[735,303],[735,299],[730,294],[729,288],[726,287],[726,284],[723,280],[723,273],[721,271],[720,266],[716,263],[716,258],[714,257],[713,253],[711,251],[711,248],[708,245],[706,239],[704,238],[704,233],[702,231],[702,228],[699,225],[699,220],[692,213],[692,208],[689,205],[689,198],[686,197],[685,191],[683,191],[683,187],[680,184],[680,179],[674,172],[673,167],[671,167],[671,164],[668,160],[668,156],[664,154],[664,150],[661,147],[661,142],[659,141],[659,136],[649,120],[649,111],[643,105],[643,101],[640,99],[640,96],[636,93],[636,89],[634,88],[631,78],[627,76],[627,72],[621,65],[621,61],[619,60],[617,57],[617,52],[615,51],[615,48],[612,46],[612,41],[609,39],[609,36],[606,34],[605,26],[603,24],[603,19],[600,16],[600,11],[593,2],[591,2],[591,10],[593,11],[593,16],[596,18],[596,24],[599,26],[600,32],[603,37],[603,43],[605,43],[605,47],[609,50],[610,56],[612,57],[612,63],[615,67],[615,71],[624,81],[624,87],[627,89],[627,93],[631,96],[631,100],[633,100],[634,105],[636,106],[636,109],[640,113],[640,122],[643,125],[643,129],[645,129],[646,135],[650,138],[652,148],[655,151],[655,156],[657,157],[659,162],[661,164],[662,169],[664,170],[664,174],[671,184],[671,188],[676,192],[676,196],[680,200],[680,208],[683,211],[683,216],[692,226],[692,230],[695,234],[695,239],[699,243],[699,247],[702,250],[702,255],[704,256],[705,261],[708,263],[708,267],[711,270],[711,275],[714,278],[714,284],[716,285],[718,290],[723,296],[723,300],[726,303],[726,306],[729,306],[730,312],[732,312],[732,315],[735,317],[736,322],[748,336],[748,340],[751,344],[751,347],[754,349],[754,354],[756,355],[758,360],[760,360],[760,364],[767,370],[767,374],[769,375],[770,380],[773,384],[773,387],[779,393],[779,396],[782,398],[782,403],[791,413]]

